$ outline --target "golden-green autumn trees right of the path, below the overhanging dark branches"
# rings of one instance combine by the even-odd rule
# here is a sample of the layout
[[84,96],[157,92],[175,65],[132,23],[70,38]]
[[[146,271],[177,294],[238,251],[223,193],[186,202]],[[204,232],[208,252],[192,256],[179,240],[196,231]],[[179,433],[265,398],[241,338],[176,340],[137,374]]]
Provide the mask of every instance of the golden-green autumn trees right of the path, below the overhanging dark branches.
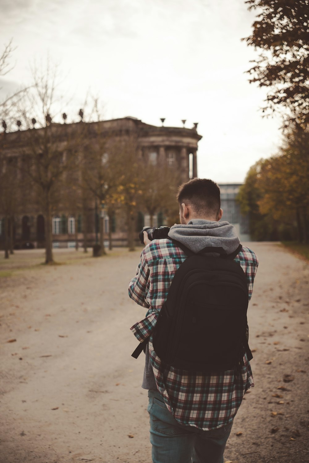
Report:
[[291,132],[278,155],[252,166],[240,188],[252,238],[309,242],[309,133]]

